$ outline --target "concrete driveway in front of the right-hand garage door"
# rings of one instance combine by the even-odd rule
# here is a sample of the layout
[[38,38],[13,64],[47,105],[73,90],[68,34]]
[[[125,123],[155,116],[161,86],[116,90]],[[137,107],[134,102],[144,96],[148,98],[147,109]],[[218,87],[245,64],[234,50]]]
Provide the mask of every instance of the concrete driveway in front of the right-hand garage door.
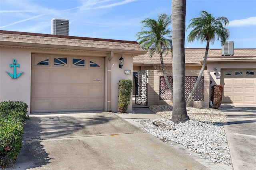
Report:
[[234,170],[256,169],[256,104],[226,104],[224,125]]

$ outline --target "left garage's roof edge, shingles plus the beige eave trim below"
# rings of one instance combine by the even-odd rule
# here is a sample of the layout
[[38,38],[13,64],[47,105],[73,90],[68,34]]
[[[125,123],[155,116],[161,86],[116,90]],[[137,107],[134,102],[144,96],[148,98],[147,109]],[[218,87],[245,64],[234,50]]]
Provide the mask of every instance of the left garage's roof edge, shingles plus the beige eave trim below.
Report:
[[133,55],[145,54],[136,41],[74,37],[40,33],[26,33],[0,30],[0,45],[26,46],[26,48],[60,48],[87,51],[113,51]]

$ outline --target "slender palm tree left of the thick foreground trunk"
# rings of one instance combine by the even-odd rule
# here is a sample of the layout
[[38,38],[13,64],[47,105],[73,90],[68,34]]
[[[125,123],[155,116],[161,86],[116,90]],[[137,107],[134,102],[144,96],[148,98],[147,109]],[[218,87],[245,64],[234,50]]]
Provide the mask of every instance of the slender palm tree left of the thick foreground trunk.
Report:
[[168,88],[173,94],[163,60],[164,54],[167,55],[170,51],[172,52],[172,31],[168,28],[168,26],[172,23],[171,16],[168,16],[165,13],[158,14],[158,20],[146,18],[140,23],[142,24],[142,31],[136,34],[137,41],[143,49],[150,49],[150,57],[152,57],[152,55],[156,52],[159,54],[164,79],[166,80]]

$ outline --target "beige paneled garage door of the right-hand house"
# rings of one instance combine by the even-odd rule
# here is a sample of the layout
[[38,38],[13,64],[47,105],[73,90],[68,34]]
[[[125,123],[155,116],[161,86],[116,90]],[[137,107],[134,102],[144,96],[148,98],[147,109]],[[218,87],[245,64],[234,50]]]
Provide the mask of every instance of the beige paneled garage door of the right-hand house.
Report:
[[256,104],[256,69],[222,69],[223,103]]

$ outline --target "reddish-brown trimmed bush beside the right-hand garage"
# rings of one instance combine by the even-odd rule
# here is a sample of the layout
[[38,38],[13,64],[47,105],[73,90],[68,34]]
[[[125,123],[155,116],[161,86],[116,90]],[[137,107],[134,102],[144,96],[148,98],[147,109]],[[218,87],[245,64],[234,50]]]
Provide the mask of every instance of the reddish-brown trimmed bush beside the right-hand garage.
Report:
[[212,86],[211,101],[214,109],[219,109],[222,101],[223,85]]

